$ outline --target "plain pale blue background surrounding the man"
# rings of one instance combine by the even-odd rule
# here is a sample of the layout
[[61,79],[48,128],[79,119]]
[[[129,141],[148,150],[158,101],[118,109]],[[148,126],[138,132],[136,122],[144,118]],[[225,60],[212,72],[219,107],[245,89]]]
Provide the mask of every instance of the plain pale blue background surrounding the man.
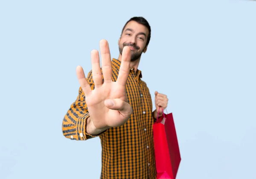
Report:
[[[145,17],[139,69],[169,98],[182,161],[177,179],[256,178],[256,2],[0,1],[0,178],[97,179],[99,138],[71,141],[61,123],[78,95],[76,66],[125,22]],[[154,103],[154,101],[153,101]]]

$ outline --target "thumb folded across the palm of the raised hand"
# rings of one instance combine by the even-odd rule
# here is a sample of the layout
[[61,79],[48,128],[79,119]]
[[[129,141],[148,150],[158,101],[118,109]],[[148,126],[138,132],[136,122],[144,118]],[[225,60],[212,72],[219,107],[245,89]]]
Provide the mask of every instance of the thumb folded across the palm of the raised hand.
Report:
[[131,105],[121,99],[106,99],[105,106],[109,109],[119,111],[123,115],[131,115]]

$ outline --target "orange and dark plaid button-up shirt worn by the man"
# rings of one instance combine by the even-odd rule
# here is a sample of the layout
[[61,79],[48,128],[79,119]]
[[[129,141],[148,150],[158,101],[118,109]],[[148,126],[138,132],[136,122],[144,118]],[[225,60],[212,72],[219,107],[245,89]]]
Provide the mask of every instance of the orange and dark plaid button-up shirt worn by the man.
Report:
[[[112,60],[113,81],[117,80],[120,64],[119,60]],[[133,113],[128,122],[96,135],[99,136],[102,145],[101,179],[156,179],[153,140],[155,119],[151,94],[141,78],[140,70],[135,73],[133,68],[130,68],[126,95]],[[87,80],[94,89],[92,71],[88,73]],[[73,140],[96,137],[86,133],[88,116],[84,92],[80,87],[76,101],[64,116],[63,135]]]

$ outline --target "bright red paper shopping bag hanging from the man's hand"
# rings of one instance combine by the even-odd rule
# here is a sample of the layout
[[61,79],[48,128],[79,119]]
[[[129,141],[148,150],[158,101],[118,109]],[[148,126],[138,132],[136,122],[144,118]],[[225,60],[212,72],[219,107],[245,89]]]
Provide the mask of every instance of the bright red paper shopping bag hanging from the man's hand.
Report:
[[175,179],[181,158],[173,116],[163,113],[158,119],[158,114],[153,124],[157,179]]

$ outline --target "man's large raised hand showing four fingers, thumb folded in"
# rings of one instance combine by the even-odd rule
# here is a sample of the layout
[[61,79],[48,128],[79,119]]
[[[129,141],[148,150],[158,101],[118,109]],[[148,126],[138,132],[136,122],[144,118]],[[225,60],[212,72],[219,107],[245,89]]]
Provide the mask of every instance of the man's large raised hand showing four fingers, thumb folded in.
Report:
[[[85,94],[90,120],[96,129],[118,127],[131,116],[132,108],[126,98],[126,82],[130,71],[131,52],[129,47],[124,47],[119,75],[116,82],[112,81],[112,64],[108,42],[100,41],[102,56],[102,73],[99,63],[99,52],[91,51],[92,76],[95,85],[91,90],[83,68],[78,66],[76,74]],[[102,74],[104,83],[102,84]]]

